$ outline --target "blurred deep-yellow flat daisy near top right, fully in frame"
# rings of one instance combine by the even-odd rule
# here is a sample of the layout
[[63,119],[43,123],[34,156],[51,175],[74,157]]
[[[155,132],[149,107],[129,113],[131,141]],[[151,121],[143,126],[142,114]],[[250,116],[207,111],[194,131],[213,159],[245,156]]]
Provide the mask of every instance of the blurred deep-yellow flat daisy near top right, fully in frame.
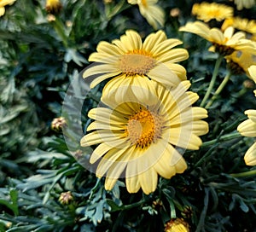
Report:
[[210,20],[224,20],[232,17],[233,8],[218,3],[195,3],[192,8],[192,14],[196,15],[198,20],[208,22]]

